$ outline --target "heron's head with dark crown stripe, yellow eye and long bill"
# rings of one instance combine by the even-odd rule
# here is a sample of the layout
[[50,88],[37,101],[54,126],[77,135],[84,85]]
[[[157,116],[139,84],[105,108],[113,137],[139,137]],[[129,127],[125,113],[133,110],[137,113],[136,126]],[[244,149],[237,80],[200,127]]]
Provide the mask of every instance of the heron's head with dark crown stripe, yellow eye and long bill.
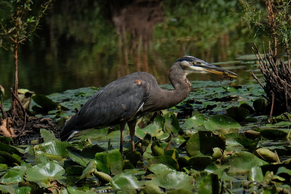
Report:
[[184,70],[185,76],[191,73],[214,73],[219,75],[224,75],[228,77],[237,77],[234,72],[229,70],[222,69],[215,65],[205,62],[204,60],[198,59],[192,56],[184,56],[179,58],[175,63],[179,64],[180,67]]

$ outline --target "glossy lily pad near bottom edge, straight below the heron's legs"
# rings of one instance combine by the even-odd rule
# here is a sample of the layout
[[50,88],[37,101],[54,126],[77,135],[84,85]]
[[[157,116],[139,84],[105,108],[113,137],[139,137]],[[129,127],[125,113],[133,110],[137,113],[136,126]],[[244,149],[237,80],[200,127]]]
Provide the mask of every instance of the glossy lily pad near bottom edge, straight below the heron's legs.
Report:
[[110,186],[117,190],[129,191],[141,188],[137,178],[132,175],[119,174],[114,176],[110,182]]

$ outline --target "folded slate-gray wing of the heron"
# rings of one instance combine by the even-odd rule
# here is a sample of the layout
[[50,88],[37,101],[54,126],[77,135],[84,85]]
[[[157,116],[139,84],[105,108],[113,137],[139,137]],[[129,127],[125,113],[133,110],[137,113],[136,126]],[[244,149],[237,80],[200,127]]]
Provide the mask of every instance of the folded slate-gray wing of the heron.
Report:
[[72,130],[102,128],[118,124],[120,120],[134,117],[141,110],[143,103],[150,94],[150,84],[141,80],[113,81],[95,93],[74,115],[68,120],[61,133]]

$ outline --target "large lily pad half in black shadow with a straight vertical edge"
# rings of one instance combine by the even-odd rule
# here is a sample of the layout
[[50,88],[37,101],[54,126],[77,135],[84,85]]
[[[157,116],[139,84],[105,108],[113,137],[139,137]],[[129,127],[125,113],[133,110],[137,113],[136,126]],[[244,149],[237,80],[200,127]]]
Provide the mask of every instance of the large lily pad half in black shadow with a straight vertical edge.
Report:
[[[205,143],[207,142],[207,143]],[[188,156],[212,156],[213,148],[225,149],[225,138],[212,131],[198,131],[187,141],[185,150]]]

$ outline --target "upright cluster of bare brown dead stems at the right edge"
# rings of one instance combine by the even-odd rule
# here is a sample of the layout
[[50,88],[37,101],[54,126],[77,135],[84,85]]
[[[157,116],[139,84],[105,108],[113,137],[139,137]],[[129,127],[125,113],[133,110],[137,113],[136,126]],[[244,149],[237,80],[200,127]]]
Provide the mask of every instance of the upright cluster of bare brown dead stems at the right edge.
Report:
[[[265,85],[251,71],[251,75],[262,86],[266,92],[270,117],[273,114],[291,112],[291,71],[288,64],[280,59],[277,66],[276,54],[273,52],[269,42],[269,54],[266,54],[263,43],[264,56],[262,57],[258,47],[254,44],[253,51],[260,62],[260,70],[264,76]],[[271,69],[270,69],[271,68]],[[275,108],[274,108],[275,107]]]

